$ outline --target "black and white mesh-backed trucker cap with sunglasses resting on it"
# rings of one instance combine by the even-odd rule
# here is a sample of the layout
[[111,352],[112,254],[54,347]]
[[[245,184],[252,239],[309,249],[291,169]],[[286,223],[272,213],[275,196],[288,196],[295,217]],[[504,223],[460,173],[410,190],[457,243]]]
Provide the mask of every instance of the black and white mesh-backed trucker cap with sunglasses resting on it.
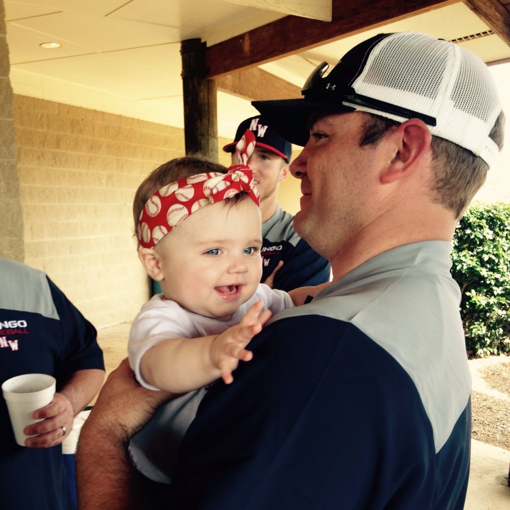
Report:
[[489,138],[501,112],[486,64],[457,44],[427,34],[379,34],[354,46],[326,75],[323,62],[300,99],[253,101],[286,140],[305,145],[310,112],[369,112],[399,122],[423,120],[489,166],[499,149]]

